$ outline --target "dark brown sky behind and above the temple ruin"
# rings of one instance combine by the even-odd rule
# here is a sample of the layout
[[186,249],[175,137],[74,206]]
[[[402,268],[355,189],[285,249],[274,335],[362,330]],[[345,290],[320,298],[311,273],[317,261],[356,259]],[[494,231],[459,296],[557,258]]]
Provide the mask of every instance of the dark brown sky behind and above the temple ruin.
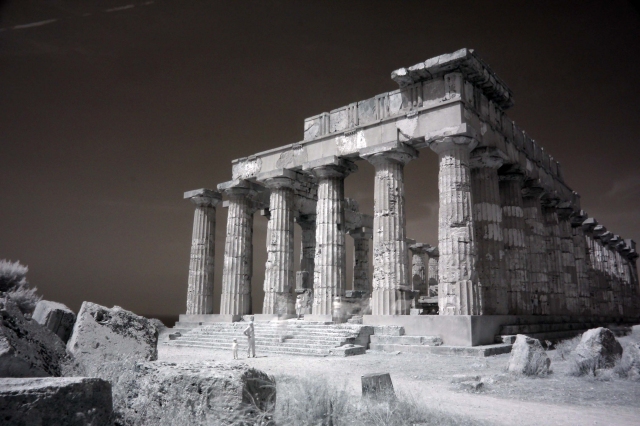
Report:
[[[184,313],[186,190],[476,49],[583,208],[640,240],[640,17],[626,1],[21,0],[0,3],[0,258],[47,299]],[[55,20],[47,22],[50,20]],[[346,182],[373,209],[373,172]],[[408,235],[437,242],[437,163],[407,166]],[[226,210],[218,210],[216,309]],[[260,312],[266,222],[256,217]],[[349,240],[349,238],[348,238]],[[349,241],[350,242],[350,241]],[[217,311],[216,311],[217,312]]]

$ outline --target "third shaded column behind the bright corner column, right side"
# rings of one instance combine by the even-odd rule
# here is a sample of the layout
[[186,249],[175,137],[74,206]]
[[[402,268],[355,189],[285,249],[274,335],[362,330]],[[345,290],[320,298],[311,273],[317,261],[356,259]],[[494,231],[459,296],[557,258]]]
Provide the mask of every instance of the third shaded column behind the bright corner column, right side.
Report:
[[543,189],[531,181],[522,189],[522,212],[526,224],[525,238],[529,251],[529,283],[533,313],[549,315],[547,250],[540,195]]

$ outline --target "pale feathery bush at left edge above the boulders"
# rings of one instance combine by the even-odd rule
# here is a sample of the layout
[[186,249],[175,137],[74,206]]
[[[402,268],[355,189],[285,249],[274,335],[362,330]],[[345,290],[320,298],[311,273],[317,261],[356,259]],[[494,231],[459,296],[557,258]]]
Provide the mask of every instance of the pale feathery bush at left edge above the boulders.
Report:
[[31,315],[42,299],[36,294],[36,287],[29,287],[26,277],[28,271],[29,268],[19,261],[0,260],[0,294],[13,300],[25,315]]

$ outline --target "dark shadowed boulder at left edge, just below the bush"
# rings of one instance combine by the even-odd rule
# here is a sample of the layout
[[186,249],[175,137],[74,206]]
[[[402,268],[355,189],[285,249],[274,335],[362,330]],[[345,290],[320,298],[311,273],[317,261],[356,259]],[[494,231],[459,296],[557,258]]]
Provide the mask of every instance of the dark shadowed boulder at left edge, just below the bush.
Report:
[[58,336],[27,320],[11,299],[0,300],[0,377],[60,376],[66,359]]

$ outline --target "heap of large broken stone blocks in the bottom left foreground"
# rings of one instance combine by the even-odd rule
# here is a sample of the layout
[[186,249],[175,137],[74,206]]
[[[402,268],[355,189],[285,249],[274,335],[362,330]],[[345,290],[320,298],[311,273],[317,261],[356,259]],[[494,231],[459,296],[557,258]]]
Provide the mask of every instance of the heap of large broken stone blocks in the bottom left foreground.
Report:
[[31,319],[0,300],[3,425],[255,424],[275,382],[245,364],[157,361],[164,326],[118,306],[78,315],[40,301]]

